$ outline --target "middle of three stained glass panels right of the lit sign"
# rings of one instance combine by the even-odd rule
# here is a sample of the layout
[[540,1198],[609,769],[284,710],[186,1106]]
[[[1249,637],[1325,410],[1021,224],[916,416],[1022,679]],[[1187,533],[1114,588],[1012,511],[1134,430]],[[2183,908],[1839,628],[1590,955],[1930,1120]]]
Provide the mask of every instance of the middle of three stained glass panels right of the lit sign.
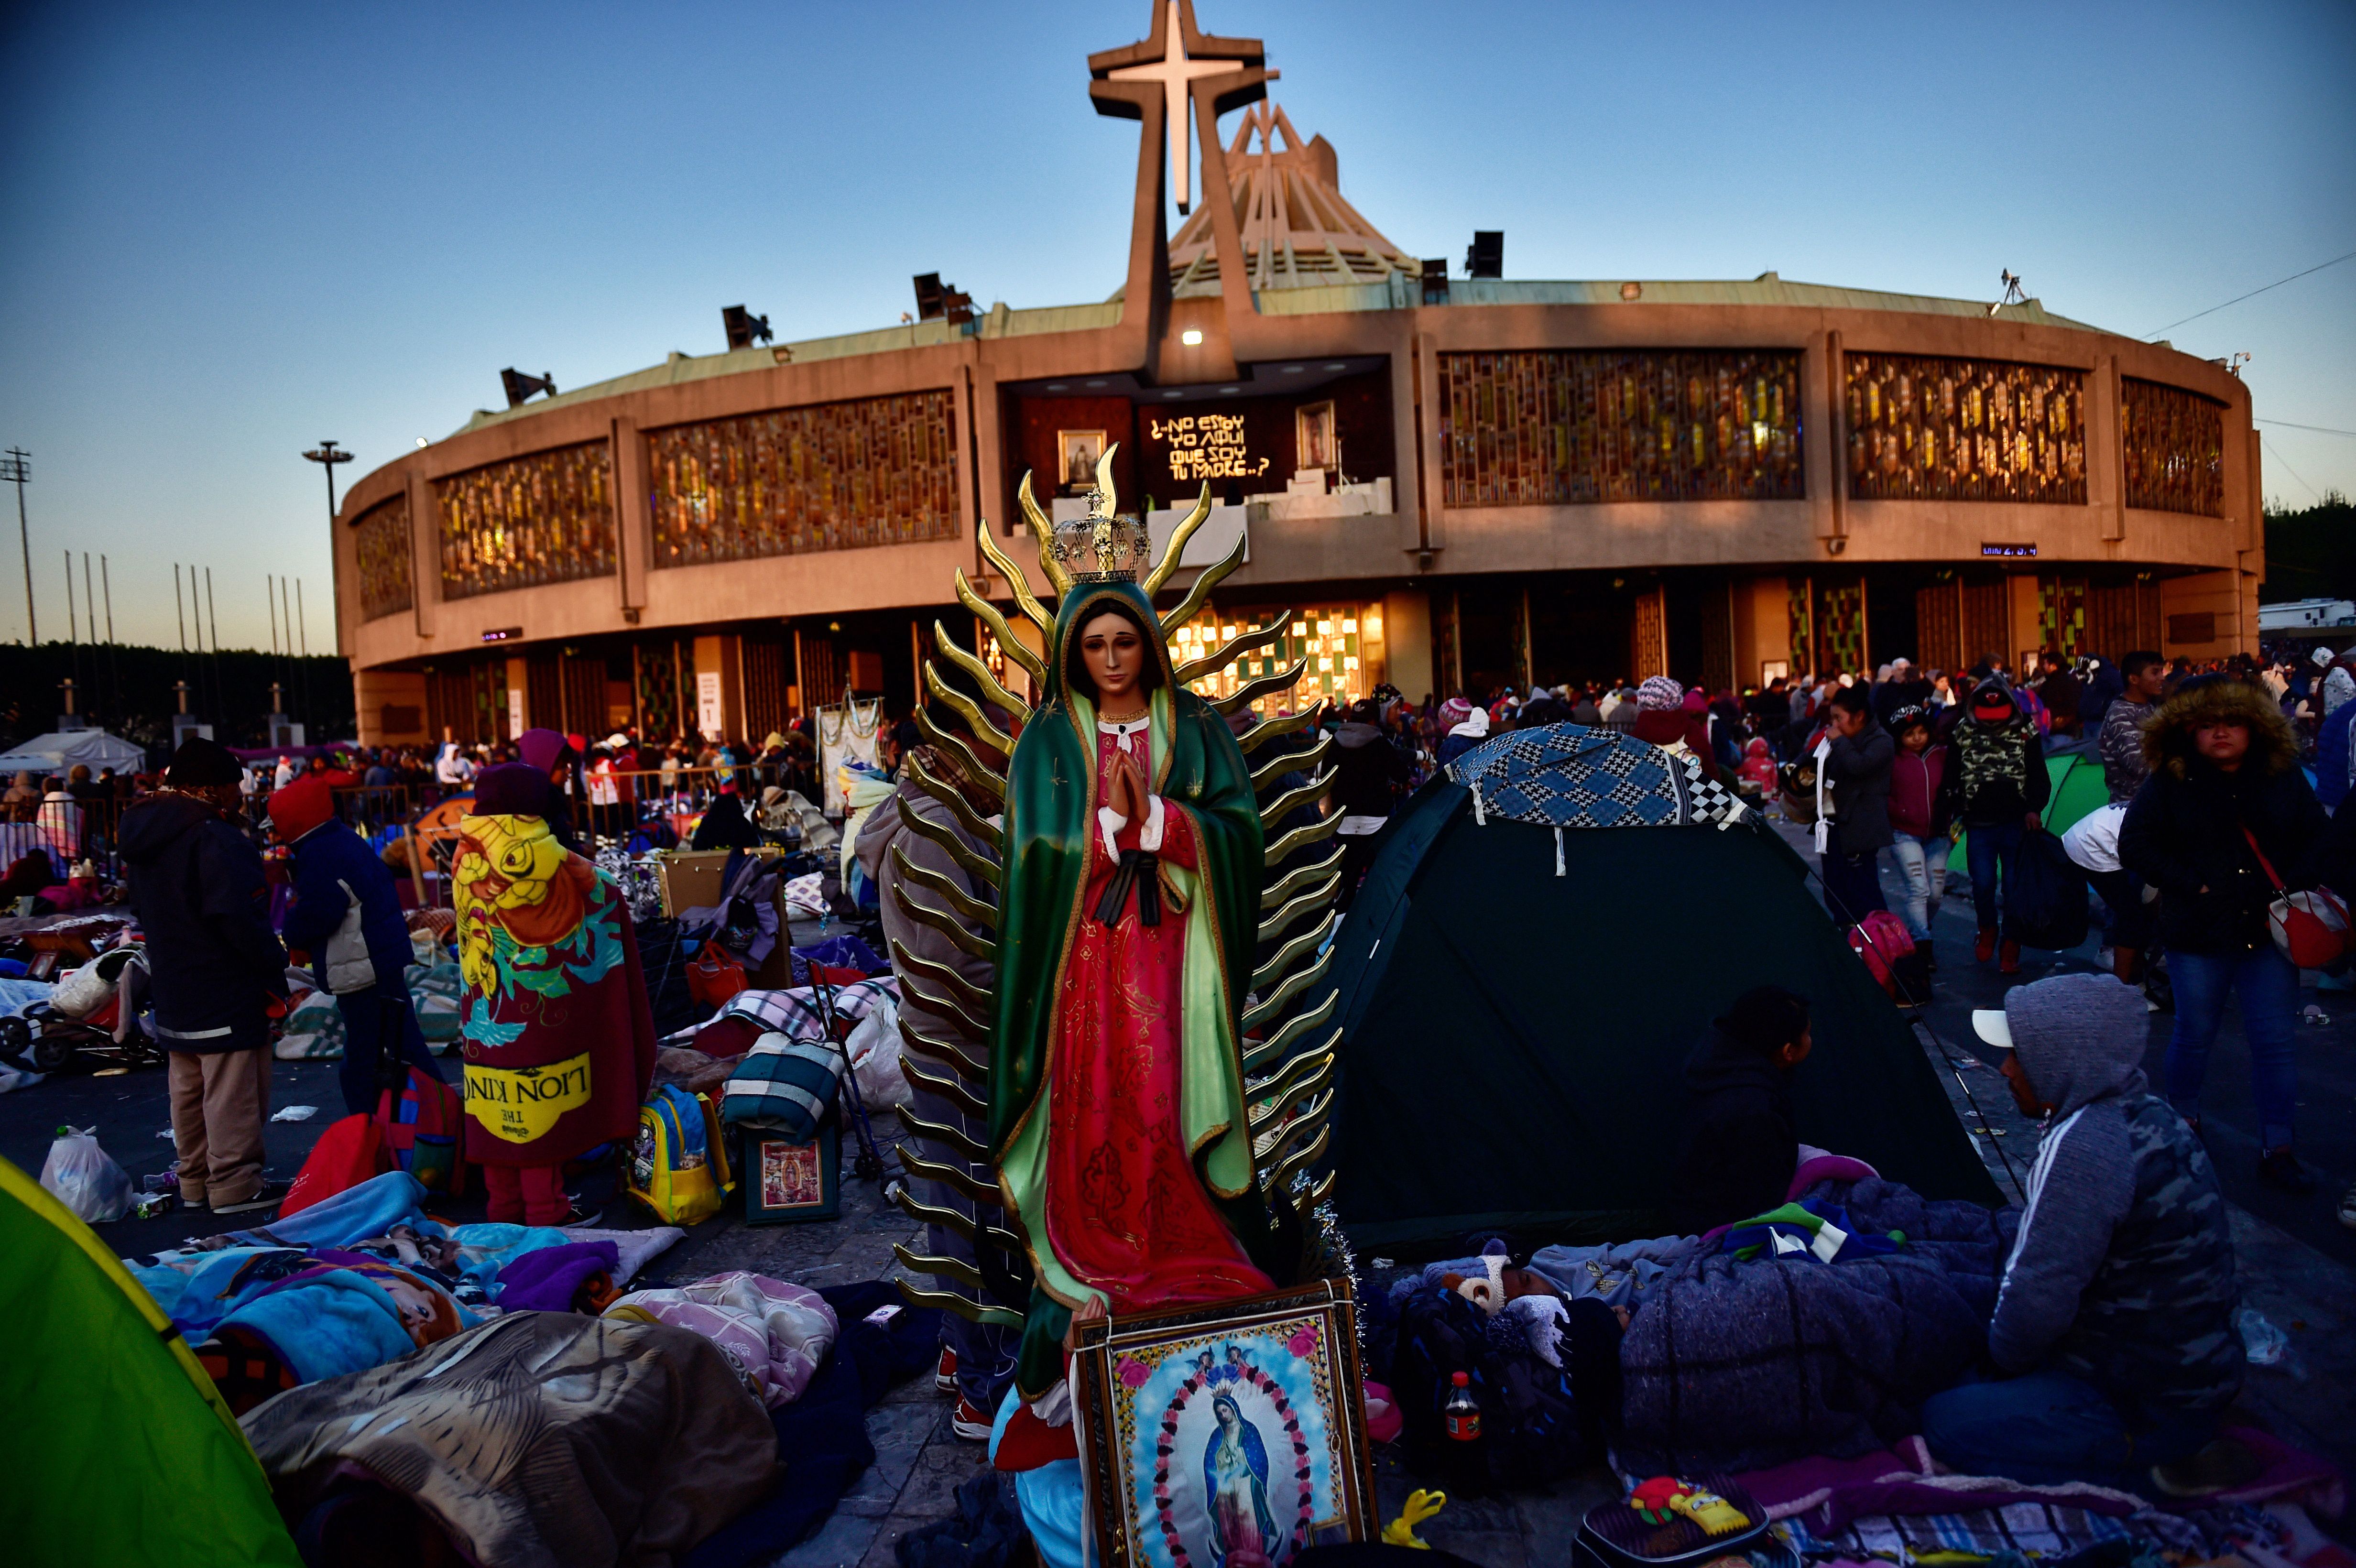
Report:
[[1852,353],[1859,501],[2085,506],[2085,374],[2007,360]]

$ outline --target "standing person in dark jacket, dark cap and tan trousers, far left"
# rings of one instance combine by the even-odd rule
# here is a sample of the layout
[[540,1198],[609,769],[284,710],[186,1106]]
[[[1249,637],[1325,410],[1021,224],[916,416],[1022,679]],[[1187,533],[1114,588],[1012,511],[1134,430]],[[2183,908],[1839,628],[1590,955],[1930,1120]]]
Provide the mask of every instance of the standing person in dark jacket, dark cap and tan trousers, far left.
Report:
[[271,1208],[262,1123],[271,1114],[271,1008],[285,1005],[285,949],[271,935],[262,852],[238,831],[238,758],[191,737],[165,786],[123,812],[132,911],[146,939],[155,1043],[172,1090],[179,1196],[238,1215]]

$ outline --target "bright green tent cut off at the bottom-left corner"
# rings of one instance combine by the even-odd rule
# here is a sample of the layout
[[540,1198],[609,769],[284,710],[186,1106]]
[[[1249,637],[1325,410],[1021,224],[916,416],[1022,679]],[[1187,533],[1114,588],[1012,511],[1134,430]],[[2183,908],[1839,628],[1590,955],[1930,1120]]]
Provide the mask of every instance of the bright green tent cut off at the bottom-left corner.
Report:
[[0,1257],[9,1561],[297,1568],[205,1368],[106,1243],[5,1158]]

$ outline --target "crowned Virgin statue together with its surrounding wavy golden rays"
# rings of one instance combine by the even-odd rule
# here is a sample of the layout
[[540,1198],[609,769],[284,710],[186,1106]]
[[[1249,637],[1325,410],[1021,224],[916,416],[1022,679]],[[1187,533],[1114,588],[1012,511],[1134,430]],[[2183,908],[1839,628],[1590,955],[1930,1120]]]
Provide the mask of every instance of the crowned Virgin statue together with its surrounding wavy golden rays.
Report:
[[[1140,582],[1152,546],[1136,518],[1114,516],[1114,450],[1098,459],[1084,520],[1051,525],[1030,478],[1018,485],[1039,570],[1060,596],[1053,612],[992,530],[980,530],[975,544],[1027,626],[1018,636],[964,572],[957,598],[1030,695],[1015,695],[990,659],[935,622],[938,655],[982,702],[926,662],[938,704],[916,709],[916,727],[933,751],[912,753],[909,779],[959,833],[924,812],[905,822],[968,881],[905,857],[886,866],[912,921],[994,965],[978,982],[891,944],[909,998],[959,1019],[968,1038],[990,1036],[982,1062],[902,1015],[909,1083],[987,1116],[990,1142],[902,1111],[919,1140],[902,1149],[909,1172],[975,1208],[964,1215],[907,1187],[900,1205],[973,1241],[975,1255],[900,1248],[909,1269],[942,1281],[902,1278],[900,1288],[916,1304],[1020,1328],[1015,1387],[1041,1410],[1060,1408],[1074,1316],[1199,1307],[1345,1269],[1331,1217],[1317,1208],[1333,1175],[1315,1170],[1341,1038],[1326,946],[1341,888],[1341,850],[1329,845],[1338,817],[1312,815],[1263,843],[1263,824],[1298,819],[1329,793],[1333,770],[1319,763],[1331,737],[1315,730],[1322,704],[1249,711],[1286,704],[1308,659],[1282,669],[1265,659],[1265,673],[1244,683],[1223,676],[1277,643],[1289,612],[1249,631],[1230,626],[1225,643],[1194,645],[1173,664],[1171,636],[1242,565],[1244,542],[1157,619],[1154,593],[1211,516],[1211,490]],[[1206,699],[1190,683],[1232,690]],[[942,704],[959,723],[938,723]],[[1001,727],[1008,718],[1020,739]],[[1263,760],[1256,784],[1244,758],[1303,730],[1312,739]],[[954,763],[957,777],[938,777],[928,758]],[[1253,798],[1301,775],[1308,782]],[[990,815],[975,793],[1004,812]],[[1268,864],[1284,871],[1263,888]]]

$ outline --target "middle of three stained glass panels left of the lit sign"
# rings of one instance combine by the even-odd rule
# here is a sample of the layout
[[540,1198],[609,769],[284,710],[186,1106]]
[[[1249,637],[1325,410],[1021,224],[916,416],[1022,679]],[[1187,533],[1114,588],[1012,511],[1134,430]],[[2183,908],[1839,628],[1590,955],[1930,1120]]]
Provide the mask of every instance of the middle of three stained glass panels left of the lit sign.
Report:
[[441,506],[443,598],[613,577],[613,447],[591,440],[455,473]]

